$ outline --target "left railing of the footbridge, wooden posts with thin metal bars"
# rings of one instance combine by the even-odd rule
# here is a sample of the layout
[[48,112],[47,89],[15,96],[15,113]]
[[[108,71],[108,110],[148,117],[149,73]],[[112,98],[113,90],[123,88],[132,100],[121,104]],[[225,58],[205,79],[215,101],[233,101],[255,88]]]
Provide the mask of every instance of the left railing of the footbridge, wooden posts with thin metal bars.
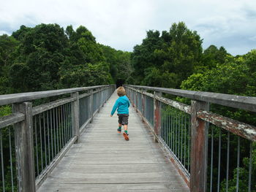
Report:
[[[114,90],[102,85],[1,95],[0,106],[12,104],[12,112],[0,117],[0,191],[36,191]],[[32,105],[55,96],[61,99]]]

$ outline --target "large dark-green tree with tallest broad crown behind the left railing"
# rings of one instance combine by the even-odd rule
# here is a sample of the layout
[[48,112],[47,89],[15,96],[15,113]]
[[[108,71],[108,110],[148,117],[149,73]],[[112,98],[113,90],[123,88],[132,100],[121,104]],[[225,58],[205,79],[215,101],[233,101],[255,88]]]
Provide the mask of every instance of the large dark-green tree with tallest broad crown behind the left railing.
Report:
[[[64,29],[57,24],[41,24],[29,30],[23,28],[23,32],[22,38],[18,36],[18,57],[10,67],[12,88],[16,93],[57,88],[59,67],[68,45]],[[23,80],[18,81],[20,77]]]

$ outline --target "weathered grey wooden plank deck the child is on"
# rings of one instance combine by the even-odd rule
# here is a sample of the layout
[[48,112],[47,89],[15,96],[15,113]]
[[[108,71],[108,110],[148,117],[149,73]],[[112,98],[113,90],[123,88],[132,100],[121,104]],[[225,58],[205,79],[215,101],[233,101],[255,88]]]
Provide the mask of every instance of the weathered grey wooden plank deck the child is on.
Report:
[[110,118],[117,97],[113,93],[83,132],[80,143],[70,148],[39,192],[189,191],[132,107],[130,140],[117,133],[117,115]]

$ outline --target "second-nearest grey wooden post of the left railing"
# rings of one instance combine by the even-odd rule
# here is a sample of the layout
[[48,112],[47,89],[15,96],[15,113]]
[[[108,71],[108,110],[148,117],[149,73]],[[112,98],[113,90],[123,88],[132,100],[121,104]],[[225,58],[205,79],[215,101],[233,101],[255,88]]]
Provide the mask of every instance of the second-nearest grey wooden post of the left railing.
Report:
[[76,93],[71,93],[72,97],[75,97],[75,101],[72,102],[71,108],[72,108],[72,123],[73,123],[73,128],[74,128],[74,133],[75,136],[78,137],[75,143],[80,142],[80,129],[79,129],[79,94],[78,92]]

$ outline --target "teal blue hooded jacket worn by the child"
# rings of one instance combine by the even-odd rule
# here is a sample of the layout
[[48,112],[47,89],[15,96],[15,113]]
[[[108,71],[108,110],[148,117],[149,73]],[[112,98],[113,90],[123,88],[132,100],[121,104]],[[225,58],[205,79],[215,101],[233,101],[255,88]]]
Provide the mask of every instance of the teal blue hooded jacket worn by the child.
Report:
[[111,115],[114,115],[114,113],[116,112],[116,108],[117,108],[118,114],[129,114],[129,110],[128,110],[129,105],[130,103],[127,96],[119,96],[119,98],[116,99],[116,103],[113,106]]

